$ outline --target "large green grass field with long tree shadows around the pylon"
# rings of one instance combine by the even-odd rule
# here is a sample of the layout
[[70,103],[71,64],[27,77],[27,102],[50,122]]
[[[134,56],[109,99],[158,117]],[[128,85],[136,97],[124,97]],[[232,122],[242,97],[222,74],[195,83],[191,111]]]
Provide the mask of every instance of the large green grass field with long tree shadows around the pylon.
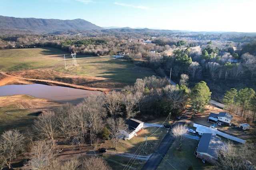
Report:
[[110,57],[76,55],[78,65],[73,66],[69,53],[54,48],[4,49],[0,50],[0,60],[0,70],[4,72],[53,69],[73,75],[103,77],[126,84],[133,84],[137,78],[154,74],[152,69]]

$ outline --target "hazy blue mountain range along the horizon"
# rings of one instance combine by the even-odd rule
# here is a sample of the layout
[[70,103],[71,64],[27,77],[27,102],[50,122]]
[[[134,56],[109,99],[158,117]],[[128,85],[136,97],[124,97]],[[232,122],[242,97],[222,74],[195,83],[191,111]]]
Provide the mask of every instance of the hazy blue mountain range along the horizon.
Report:
[[[54,34],[54,35],[77,35],[98,33],[195,33],[193,31],[130,28],[130,27],[99,27],[82,19],[58,20],[37,18],[14,18],[0,16],[0,34]],[[216,33],[216,32],[200,32]],[[219,32],[220,33],[220,32]],[[222,32],[225,33],[225,32]],[[227,32],[226,32],[227,33]],[[244,34],[244,33],[232,33]],[[254,33],[255,34],[255,33]]]

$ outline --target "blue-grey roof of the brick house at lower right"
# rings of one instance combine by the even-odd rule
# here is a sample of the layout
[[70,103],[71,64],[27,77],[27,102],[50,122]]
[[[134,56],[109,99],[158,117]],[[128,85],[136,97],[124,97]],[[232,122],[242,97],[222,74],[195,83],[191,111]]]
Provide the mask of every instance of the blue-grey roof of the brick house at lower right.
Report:
[[220,145],[222,145],[220,137],[211,133],[204,133],[200,139],[196,152],[207,153],[213,158],[218,159],[218,148]]

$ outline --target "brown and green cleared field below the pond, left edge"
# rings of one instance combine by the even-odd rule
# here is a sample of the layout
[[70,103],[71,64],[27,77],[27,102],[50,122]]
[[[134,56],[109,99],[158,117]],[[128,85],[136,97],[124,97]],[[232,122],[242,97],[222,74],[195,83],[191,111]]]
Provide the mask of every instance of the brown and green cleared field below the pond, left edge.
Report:
[[22,131],[32,125],[38,111],[57,106],[61,104],[27,95],[0,96],[0,134],[10,129]]

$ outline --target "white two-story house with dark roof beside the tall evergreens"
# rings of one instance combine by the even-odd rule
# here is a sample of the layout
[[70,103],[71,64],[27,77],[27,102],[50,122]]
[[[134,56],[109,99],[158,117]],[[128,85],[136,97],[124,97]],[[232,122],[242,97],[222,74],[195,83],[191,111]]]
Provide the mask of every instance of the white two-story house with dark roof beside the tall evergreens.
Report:
[[228,113],[228,112],[220,112],[219,114],[217,113],[210,113],[208,117],[208,121],[216,124],[225,124],[225,125],[230,125],[230,122],[232,121],[233,116]]

